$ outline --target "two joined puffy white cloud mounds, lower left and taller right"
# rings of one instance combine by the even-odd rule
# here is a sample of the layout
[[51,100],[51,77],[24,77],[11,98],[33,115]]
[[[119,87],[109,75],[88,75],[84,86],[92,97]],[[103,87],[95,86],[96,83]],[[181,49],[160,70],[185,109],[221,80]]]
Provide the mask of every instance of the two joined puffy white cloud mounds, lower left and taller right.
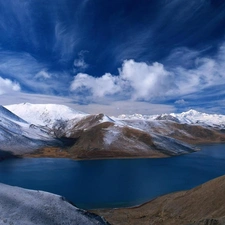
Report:
[[[74,77],[70,90],[95,97],[105,97],[117,94],[133,100],[150,100],[163,97],[171,91],[173,74],[165,70],[160,63],[148,65],[134,60],[124,61],[119,69],[119,75],[110,73],[94,78],[88,74],[79,73]],[[163,91],[162,91],[163,90]]]

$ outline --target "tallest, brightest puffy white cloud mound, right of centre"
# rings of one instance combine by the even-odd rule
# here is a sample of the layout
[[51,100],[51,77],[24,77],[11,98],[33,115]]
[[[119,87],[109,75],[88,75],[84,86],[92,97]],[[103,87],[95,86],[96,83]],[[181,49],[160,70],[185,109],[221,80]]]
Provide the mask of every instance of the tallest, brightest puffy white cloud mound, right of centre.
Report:
[[162,97],[168,95],[174,88],[171,82],[173,74],[157,62],[148,65],[143,62],[126,60],[119,74],[120,80],[125,81],[132,89],[131,97],[134,100]]

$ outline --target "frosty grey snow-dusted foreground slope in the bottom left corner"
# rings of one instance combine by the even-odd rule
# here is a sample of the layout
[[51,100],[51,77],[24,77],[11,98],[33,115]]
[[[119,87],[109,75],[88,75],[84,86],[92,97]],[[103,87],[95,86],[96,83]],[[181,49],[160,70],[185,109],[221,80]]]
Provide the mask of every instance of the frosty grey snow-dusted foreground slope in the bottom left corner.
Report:
[[55,194],[0,184],[0,224],[109,225]]

